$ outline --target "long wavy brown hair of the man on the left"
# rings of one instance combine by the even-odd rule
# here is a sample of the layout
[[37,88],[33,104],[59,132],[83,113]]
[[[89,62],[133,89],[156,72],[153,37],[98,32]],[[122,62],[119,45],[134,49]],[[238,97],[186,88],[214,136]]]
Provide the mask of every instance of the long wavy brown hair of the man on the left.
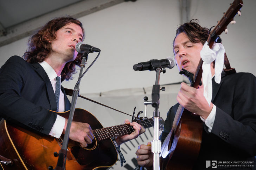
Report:
[[[31,36],[28,41],[28,50],[24,53],[23,58],[28,63],[43,62],[45,57],[51,51],[51,40],[56,39],[56,32],[60,28],[75,23],[82,28],[84,39],[84,28],[82,23],[72,17],[61,17],[47,22],[38,32]],[[76,73],[76,66],[80,67],[82,54],[78,53],[74,61],[66,63],[61,72],[61,80],[73,79],[72,74]]]

